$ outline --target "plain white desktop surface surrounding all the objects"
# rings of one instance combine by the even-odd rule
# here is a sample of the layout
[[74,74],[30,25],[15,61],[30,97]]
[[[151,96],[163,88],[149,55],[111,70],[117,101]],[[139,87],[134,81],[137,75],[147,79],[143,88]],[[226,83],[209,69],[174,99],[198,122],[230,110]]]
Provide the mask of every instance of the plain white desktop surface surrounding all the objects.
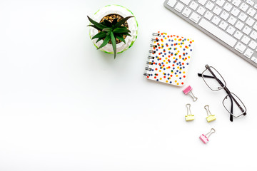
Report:
[[[130,9],[128,51],[97,51],[88,16]],[[164,8],[163,1],[0,1],[0,170],[257,170],[257,70]],[[198,97],[143,77],[153,31],[195,39],[186,85]],[[234,119],[197,73],[208,63],[243,100]],[[186,103],[196,119],[186,123]],[[217,120],[206,122],[204,105]],[[211,135],[205,145],[199,136]]]

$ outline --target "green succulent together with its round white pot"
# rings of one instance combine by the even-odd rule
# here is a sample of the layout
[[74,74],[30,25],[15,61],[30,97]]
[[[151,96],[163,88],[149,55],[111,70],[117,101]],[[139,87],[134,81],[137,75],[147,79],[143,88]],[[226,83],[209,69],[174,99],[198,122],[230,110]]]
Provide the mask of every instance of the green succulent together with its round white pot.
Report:
[[89,24],[89,36],[96,48],[106,53],[122,53],[136,41],[138,24],[124,6],[109,5],[97,11]]

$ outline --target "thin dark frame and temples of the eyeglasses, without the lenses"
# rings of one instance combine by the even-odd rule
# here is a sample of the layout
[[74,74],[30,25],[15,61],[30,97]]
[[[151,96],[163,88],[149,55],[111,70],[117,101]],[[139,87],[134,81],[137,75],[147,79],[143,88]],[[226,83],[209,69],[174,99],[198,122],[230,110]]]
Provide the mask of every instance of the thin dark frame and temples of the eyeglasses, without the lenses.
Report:
[[[198,76],[200,76],[201,78],[203,78],[204,83],[206,83],[206,81],[205,81],[204,78],[215,78],[216,81],[218,81],[219,85],[221,86],[221,87],[218,88],[218,90],[224,89],[224,90],[226,91],[226,93],[227,93],[228,95],[226,95],[226,97],[223,99],[222,103],[223,103],[224,108],[226,108],[226,106],[224,105],[224,100],[226,100],[228,97],[230,98],[230,100],[231,100],[231,110],[229,111],[227,108],[226,108],[226,110],[228,111],[228,113],[231,114],[231,115],[230,115],[230,120],[231,120],[231,122],[233,122],[233,117],[238,118],[238,117],[240,117],[241,115],[246,115],[246,110],[243,109],[243,108],[246,109],[246,106],[243,104],[243,102],[241,101],[241,99],[238,98],[237,95],[235,95],[234,93],[231,93],[231,91],[228,90],[228,88],[226,87],[226,81],[225,81],[224,78],[221,76],[221,74],[218,73],[218,71],[216,71],[216,69],[213,68],[212,66],[206,65],[205,67],[206,67],[206,70],[204,70],[203,73],[208,70],[208,71],[211,73],[212,76],[206,76],[206,75],[204,75],[203,73],[198,73]],[[224,82],[224,83],[222,83],[222,81],[216,77],[216,75],[213,73],[213,71],[211,71],[211,69],[213,69],[214,71],[216,71],[216,72],[221,76],[221,78],[223,79],[223,82]],[[208,86],[208,83],[206,83],[206,85]],[[213,90],[210,86],[208,86],[208,88],[210,88],[211,90]],[[218,91],[218,90],[213,90],[213,91]],[[243,108],[242,108],[241,105],[238,103],[238,101],[237,101],[235,98],[233,98],[233,95],[235,95],[236,98],[238,98],[238,100],[240,100],[241,104],[243,104]],[[236,103],[236,105],[238,105],[238,108],[241,110],[241,112],[242,112],[241,115],[233,115],[233,101]]]

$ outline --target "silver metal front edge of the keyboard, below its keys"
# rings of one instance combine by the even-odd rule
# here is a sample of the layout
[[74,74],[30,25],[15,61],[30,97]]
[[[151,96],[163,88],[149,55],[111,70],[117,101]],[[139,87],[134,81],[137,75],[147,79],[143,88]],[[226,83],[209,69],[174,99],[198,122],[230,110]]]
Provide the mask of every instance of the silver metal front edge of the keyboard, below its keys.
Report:
[[[226,48],[228,48],[229,50],[233,51],[233,53],[236,53],[236,55],[240,56],[241,58],[243,58],[245,61],[248,61],[248,63],[251,63],[253,66],[255,66],[257,68],[257,63],[254,63],[251,58],[247,58],[246,56],[243,56],[242,53],[239,53],[236,51],[235,48],[231,48],[231,46],[228,46],[228,44],[224,43],[223,41],[221,41],[218,37],[214,36],[213,34],[209,33],[208,31],[206,31],[204,28],[201,28],[201,26],[199,26],[198,24],[195,24],[193,21],[191,21],[188,18],[184,17],[181,13],[178,13],[178,11],[176,11],[175,9],[171,8],[171,6],[168,6],[168,0],[164,1],[163,5],[166,7],[166,9],[170,10],[173,12],[173,14],[176,14],[177,16],[181,17],[181,19],[187,21],[188,23],[190,23],[191,25],[195,26],[196,28],[198,28],[198,30],[201,30],[203,33],[206,33],[206,35],[210,36],[211,38],[213,38],[215,41],[218,41],[218,43],[221,43],[221,45],[225,46]],[[203,19],[203,17],[201,17],[201,19]]]

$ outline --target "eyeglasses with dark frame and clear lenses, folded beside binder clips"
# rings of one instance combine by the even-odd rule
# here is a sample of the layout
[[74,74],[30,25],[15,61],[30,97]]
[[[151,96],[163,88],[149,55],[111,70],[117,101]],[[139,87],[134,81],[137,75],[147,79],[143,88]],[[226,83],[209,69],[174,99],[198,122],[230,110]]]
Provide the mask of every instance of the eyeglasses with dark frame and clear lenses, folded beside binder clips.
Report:
[[208,88],[213,91],[225,90],[228,95],[223,99],[223,106],[230,113],[230,120],[233,122],[233,117],[238,118],[241,115],[246,115],[246,106],[234,93],[226,87],[226,82],[218,71],[212,66],[206,65],[206,70],[203,73],[198,73],[198,76],[203,78]]

